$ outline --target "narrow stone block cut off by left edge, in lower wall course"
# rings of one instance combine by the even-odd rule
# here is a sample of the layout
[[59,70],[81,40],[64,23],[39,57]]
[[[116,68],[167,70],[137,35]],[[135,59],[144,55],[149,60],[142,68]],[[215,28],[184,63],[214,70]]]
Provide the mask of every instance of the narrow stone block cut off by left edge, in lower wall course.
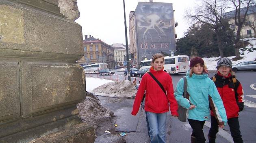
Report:
[[20,117],[19,64],[0,61],[0,121]]

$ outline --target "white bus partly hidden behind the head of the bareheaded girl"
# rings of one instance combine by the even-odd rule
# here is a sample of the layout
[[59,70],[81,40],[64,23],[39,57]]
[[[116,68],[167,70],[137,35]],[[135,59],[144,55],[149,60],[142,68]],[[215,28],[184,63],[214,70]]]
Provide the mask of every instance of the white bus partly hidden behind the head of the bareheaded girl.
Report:
[[[151,60],[141,61],[141,69],[151,67]],[[189,56],[178,55],[172,57],[165,57],[164,71],[168,74],[185,73],[189,70]]]

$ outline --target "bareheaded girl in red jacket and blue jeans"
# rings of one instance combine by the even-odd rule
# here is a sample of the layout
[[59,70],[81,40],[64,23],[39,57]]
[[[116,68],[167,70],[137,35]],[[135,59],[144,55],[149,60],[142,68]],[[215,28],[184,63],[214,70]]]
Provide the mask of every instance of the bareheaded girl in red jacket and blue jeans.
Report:
[[142,79],[133,103],[132,115],[136,115],[146,91],[145,111],[150,126],[150,143],[165,143],[165,125],[169,108],[174,117],[178,116],[178,103],[174,97],[174,88],[169,74],[163,71],[164,57],[155,54],[151,61],[150,73],[163,85],[165,92],[157,82],[146,73]]

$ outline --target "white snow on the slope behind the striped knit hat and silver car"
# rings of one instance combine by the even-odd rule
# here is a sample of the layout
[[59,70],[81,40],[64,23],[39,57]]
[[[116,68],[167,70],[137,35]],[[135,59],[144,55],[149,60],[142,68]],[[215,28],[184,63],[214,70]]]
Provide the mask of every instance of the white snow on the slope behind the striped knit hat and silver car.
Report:
[[[254,61],[256,59],[256,38],[246,38],[244,41],[247,41],[250,43],[245,48],[240,48],[240,57],[243,57],[243,59],[232,61],[232,59],[235,56],[228,57],[232,61],[232,65],[235,65],[236,63],[240,63],[243,61]],[[250,52],[252,51],[252,52]],[[216,70],[216,65],[220,57],[211,57],[211,58],[203,58],[206,66],[208,67],[208,70]]]

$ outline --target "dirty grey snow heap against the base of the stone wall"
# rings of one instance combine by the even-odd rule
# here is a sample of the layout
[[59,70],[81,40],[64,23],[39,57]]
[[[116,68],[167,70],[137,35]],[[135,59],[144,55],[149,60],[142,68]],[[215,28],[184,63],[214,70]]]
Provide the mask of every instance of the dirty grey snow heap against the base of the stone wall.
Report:
[[85,100],[78,103],[76,107],[79,110],[82,122],[96,127],[99,122],[109,120],[114,116],[111,110],[101,105],[98,97],[88,92],[86,93]]

